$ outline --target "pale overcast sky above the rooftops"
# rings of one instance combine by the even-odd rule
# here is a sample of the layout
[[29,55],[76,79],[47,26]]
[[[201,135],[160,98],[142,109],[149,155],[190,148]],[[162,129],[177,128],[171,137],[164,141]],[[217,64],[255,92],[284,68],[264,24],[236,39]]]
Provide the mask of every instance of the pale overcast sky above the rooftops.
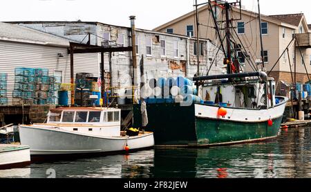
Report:
[[[199,3],[207,0],[198,0]],[[235,0],[229,0],[235,1]],[[310,0],[260,0],[261,13],[278,15],[305,13],[311,24]],[[257,12],[257,0],[243,0],[243,6]],[[194,0],[1,0],[0,21],[99,21],[153,29],[194,10]]]

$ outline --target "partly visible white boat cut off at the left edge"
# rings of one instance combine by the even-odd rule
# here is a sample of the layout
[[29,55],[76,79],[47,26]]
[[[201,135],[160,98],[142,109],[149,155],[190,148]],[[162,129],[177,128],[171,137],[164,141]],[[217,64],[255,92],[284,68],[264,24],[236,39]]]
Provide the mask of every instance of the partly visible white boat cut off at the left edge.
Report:
[[23,167],[29,164],[29,146],[13,144],[0,145],[0,169]]

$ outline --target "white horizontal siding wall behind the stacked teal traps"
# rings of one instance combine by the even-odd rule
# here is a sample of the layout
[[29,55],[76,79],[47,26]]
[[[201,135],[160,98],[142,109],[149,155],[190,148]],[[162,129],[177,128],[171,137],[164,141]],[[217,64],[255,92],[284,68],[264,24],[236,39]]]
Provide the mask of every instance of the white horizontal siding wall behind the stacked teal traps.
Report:
[[[16,67],[49,69],[49,76],[54,76],[55,70],[63,71],[64,83],[70,83],[70,55],[67,49],[66,47],[0,41],[0,71],[8,73],[8,103],[12,104]],[[62,53],[64,57],[59,58],[57,53]],[[75,73],[93,73],[97,77],[99,71],[97,54],[75,54],[74,71]]]

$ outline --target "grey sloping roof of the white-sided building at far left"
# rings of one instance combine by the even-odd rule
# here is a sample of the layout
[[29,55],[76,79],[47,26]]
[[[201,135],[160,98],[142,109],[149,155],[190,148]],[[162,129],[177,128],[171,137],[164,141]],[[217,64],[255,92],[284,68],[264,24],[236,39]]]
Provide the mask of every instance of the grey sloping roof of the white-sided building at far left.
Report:
[[66,38],[57,37],[25,26],[3,22],[0,22],[0,40],[50,46],[69,46],[70,42]]

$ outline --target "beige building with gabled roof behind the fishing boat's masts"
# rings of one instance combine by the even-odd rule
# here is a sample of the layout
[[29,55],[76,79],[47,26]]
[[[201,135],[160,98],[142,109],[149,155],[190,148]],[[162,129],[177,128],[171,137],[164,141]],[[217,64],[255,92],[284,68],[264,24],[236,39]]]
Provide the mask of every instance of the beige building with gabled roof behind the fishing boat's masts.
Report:
[[[261,59],[258,14],[243,9],[240,14],[240,9],[235,7],[233,7],[232,10],[231,17],[234,19],[234,21],[232,21],[232,26],[235,30],[232,32],[232,40],[245,46],[245,50],[247,51],[244,53],[247,53],[246,55],[249,55],[250,59],[245,59],[243,57],[245,54],[241,51],[234,52],[236,52],[235,54],[240,58],[240,62],[245,66],[243,67],[245,71],[252,71],[252,64],[254,64],[255,68],[261,68],[261,66],[255,64],[256,61],[258,62],[258,60]],[[218,21],[220,21],[220,19],[225,19],[224,10],[218,7],[215,11],[215,7],[213,7],[213,11]],[[198,23],[200,24],[199,37],[208,38],[220,44],[219,38],[216,35],[216,30],[214,29],[212,14],[208,6],[202,6],[198,9],[198,18]],[[265,68],[267,71],[270,71],[274,64],[276,64],[270,76],[273,76],[276,81],[283,80],[288,83],[292,82],[290,64],[294,72],[294,47],[296,47],[296,81],[306,82],[308,76],[306,75],[305,67],[301,59],[301,53],[308,73],[311,73],[311,50],[308,49],[311,48],[311,43],[310,30],[305,16],[302,13],[294,15],[261,15],[261,19]],[[225,22],[219,22],[218,27],[220,28],[220,33],[224,34]],[[181,35],[193,34],[196,36],[195,12],[191,11],[173,21],[158,26],[154,30]],[[294,37],[293,34],[296,34],[299,46],[298,44],[295,46],[294,42],[292,42],[288,47],[288,51],[285,51],[285,54],[283,54],[279,62],[277,62],[283,51],[292,41]]]

